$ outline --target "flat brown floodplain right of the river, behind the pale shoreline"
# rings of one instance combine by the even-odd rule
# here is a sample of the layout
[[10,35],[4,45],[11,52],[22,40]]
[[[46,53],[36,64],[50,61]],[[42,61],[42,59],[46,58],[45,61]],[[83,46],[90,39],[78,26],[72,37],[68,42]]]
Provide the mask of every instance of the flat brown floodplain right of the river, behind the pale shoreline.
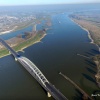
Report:
[[96,12],[78,12],[69,16],[74,22],[79,24],[90,33],[93,43],[100,46],[100,14]]

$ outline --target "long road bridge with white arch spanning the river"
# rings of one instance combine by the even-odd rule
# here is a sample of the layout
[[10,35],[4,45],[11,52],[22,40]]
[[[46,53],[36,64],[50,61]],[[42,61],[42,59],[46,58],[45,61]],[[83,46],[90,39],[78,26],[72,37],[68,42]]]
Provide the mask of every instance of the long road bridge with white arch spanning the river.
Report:
[[16,53],[3,39],[0,42],[11,52],[17,61],[38,81],[38,83],[47,91],[48,97],[52,95],[55,100],[68,100],[58,89],[56,89],[38,69],[38,67],[28,58]]

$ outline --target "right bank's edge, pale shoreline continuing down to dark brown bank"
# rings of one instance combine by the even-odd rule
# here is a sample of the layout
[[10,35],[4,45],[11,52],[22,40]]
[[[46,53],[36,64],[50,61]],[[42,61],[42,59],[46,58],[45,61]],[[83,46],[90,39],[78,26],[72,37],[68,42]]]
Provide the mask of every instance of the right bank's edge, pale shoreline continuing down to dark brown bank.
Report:
[[[92,35],[95,35],[95,33],[93,33],[91,30],[86,28],[86,26],[84,24],[82,24],[81,22],[79,22],[77,19],[71,18],[71,20],[88,33],[88,37],[91,40],[90,43],[95,44],[98,48],[99,53],[100,53],[100,46],[99,46],[100,44],[99,44],[99,42],[96,42],[97,41],[96,38],[92,37]],[[95,74],[96,83],[100,87],[100,54],[95,55],[93,57],[93,61],[97,67],[97,72]]]

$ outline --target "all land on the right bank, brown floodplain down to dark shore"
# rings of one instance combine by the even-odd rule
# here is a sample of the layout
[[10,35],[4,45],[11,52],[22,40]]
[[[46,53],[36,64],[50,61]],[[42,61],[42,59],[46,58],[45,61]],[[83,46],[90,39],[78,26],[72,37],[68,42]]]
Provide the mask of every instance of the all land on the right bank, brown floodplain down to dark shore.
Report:
[[99,49],[98,54],[93,57],[93,61],[97,66],[95,78],[100,87],[100,13],[99,11],[76,12],[69,17],[88,32],[91,43],[96,44]]

